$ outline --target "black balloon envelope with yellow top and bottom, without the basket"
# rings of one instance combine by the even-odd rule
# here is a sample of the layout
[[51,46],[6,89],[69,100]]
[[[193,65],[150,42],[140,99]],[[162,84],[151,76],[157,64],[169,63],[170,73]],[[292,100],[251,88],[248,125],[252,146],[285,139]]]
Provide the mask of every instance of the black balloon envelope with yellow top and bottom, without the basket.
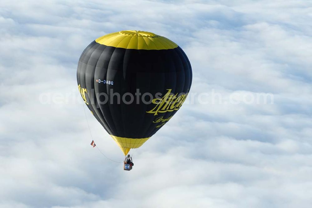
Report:
[[77,81],[85,104],[126,155],[181,108],[192,69],[173,41],[127,30],[88,45],[79,59]]

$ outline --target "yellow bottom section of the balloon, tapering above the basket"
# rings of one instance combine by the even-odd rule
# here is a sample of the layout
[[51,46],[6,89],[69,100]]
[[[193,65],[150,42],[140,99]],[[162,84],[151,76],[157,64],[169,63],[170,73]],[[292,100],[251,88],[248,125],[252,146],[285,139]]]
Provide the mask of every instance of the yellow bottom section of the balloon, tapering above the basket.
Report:
[[141,139],[133,139],[133,138],[125,138],[125,137],[119,137],[110,135],[115,142],[120,147],[121,151],[124,153],[124,155],[127,155],[130,149],[138,148],[144,144],[150,137],[147,138],[141,138]]

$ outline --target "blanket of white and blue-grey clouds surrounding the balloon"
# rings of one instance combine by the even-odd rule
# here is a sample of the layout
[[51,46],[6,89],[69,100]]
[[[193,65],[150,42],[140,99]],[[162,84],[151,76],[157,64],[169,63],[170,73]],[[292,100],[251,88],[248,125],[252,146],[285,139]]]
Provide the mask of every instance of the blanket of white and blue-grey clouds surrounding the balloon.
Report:
[[[2,0],[0,206],[310,207],[311,18],[297,0]],[[76,86],[85,47],[121,30],[173,40],[193,68],[193,102],[132,152],[130,172],[90,146]],[[274,102],[246,102],[261,93]]]

